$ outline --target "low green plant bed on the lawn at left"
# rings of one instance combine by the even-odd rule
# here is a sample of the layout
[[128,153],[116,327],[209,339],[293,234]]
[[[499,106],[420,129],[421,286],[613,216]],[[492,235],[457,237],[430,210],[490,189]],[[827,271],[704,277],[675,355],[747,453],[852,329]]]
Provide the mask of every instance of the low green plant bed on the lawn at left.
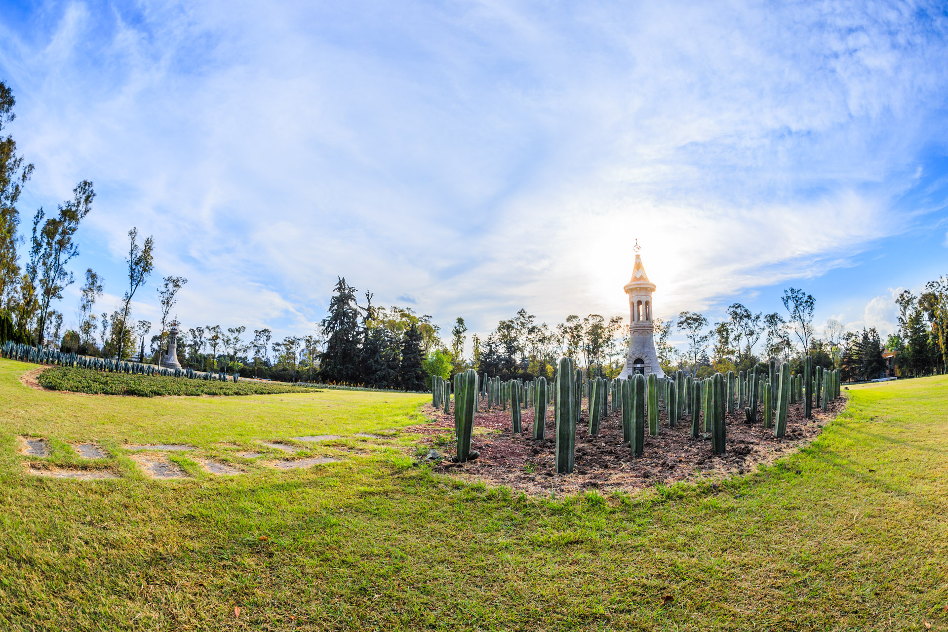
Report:
[[272,395],[275,393],[319,392],[315,388],[263,382],[221,382],[188,380],[163,375],[114,373],[78,367],[53,367],[40,373],[37,381],[52,390],[71,390],[96,395]]

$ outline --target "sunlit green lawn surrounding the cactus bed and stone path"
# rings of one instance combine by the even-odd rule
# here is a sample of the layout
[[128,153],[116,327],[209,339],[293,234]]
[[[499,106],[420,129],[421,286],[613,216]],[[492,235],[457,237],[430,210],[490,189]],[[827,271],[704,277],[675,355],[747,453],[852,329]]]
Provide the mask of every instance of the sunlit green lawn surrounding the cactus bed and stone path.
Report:
[[[406,438],[227,478],[180,457],[193,479],[146,479],[119,445],[381,430],[426,398],[47,393],[20,384],[32,368],[0,361],[2,629],[948,627],[945,377],[854,388],[817,442],[753,475],[536,498],[411,467]],[[122,478],[28,476],[30,433],[64,464],[65,442],[99,440]]]

